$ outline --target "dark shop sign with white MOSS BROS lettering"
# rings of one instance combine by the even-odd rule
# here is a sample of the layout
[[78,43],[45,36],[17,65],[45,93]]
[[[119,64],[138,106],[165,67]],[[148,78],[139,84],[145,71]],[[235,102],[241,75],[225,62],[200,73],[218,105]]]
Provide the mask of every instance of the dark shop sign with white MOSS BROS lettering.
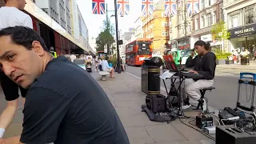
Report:
[[228,31],[230,32],[230,38],[246,37],[256,34],[256,24],[238,27]]

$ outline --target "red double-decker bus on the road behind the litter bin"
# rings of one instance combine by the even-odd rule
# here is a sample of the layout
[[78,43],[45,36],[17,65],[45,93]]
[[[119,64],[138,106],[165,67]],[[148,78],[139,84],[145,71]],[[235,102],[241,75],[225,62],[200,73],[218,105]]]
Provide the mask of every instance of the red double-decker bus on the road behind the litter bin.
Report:
[[141,66],[144,58],[152,55],[152,40],[149,38],[138,38],[126,45],[126,64],[130,66]]

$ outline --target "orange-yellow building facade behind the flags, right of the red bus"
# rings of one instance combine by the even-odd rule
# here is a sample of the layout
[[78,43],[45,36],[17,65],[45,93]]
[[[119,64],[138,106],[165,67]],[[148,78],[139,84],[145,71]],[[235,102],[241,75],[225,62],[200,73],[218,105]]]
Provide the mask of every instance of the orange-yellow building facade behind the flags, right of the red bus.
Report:
[[153,41],[154,53],[163,54],[165,45],[170,41],[169,17],[165,15],[164,0],[154,4],[153,15],[142,18],[143,37]]

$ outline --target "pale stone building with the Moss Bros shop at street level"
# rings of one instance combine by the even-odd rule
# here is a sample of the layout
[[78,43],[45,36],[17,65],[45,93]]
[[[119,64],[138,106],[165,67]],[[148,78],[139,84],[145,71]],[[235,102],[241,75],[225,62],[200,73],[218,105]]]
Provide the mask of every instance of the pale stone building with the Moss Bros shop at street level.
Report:
[[250,50],[256,46],[256,1],[224,0],[224,17],[230,31],[229,50]]

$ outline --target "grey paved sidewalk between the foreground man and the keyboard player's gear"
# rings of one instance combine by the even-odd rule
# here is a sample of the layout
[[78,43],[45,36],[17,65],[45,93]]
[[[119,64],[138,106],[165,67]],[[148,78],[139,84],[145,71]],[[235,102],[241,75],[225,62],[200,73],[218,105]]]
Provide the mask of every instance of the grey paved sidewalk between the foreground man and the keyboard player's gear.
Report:
[[[151,122],[141,106],[146,94],[141,92],[141,82],[129,74],[115,74],[114,79],[101,81],[98,72],[92,76],[102,86],[125,126],[131,144],[214,144],[198,131],[185,126],[176,119],[174,122]],[[194,112],[186,113],[194,115]],[[184,121],[184,120],[182,120]],[[191,121],[187,119],[186,121]]]

